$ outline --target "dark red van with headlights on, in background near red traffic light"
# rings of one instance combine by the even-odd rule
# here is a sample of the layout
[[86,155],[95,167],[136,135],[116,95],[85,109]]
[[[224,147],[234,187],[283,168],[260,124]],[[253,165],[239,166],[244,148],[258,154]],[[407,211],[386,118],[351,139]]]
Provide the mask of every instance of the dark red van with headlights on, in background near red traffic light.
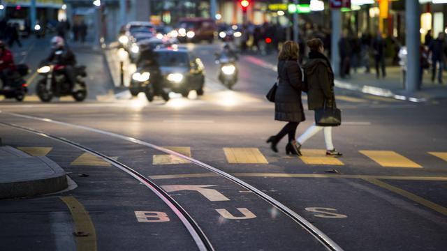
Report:
[[209,43],[212,43],[216,30],[217,28],[214,20],[210,18],[183,18],[179,21],[177,27],[177,38],[182,43],[196,43],[201,40],[207,40]]

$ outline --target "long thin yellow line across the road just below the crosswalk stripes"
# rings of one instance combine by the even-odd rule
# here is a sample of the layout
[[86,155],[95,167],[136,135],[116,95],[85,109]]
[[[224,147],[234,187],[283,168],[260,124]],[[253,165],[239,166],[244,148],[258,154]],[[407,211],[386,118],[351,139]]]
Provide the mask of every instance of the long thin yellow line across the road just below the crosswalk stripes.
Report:
[[[447,181],[447,176],[381,176],[381,175],[356,175],[356,174],[270,174],[270,173],[233,173],[237,177],[268,177],[268,178],[376,178],[396,181]],[[215,177],[218,174],[168,174],[149,176],[152,179],[168,178],[206,178]]]

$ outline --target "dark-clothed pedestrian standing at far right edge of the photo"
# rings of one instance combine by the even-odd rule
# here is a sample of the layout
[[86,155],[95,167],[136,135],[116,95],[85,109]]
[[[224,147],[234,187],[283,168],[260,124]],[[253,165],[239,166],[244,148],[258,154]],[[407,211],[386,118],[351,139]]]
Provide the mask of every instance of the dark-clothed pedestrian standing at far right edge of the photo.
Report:
[[439,65],[438,83],[442,84],[442,71],[446,59],[446,41],[444,32],[439,32],[438,38],[430,42],[429,51],[432,53],[432,82],[436,76],[437,65]]

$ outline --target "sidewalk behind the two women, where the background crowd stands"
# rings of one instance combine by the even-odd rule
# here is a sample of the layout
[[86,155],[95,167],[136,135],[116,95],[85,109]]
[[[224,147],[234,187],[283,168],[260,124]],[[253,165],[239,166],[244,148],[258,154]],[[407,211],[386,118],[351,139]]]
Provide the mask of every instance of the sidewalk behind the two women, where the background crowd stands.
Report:
[[[276,70],[277,54],[272,53],[267,56],[247,54],[242,55],[242,59],[272,71]],[[351,69],[350,78],[341,79],[339,76],[335,76],[335,86],[340,89],[349,89],[351,91],[359,91],[399,100],[409,100],[411,102],[424,102],[427,100],[447,98],[446,72],[444,72],[444,84],[437,84],[437,82],[432,83],[431,69],[425,70],[422,89],[414,93],[409,93],[404,89],[400,66],[388,66],[386,68],[386,78],[381,77],[377,79],[374,67],[371,69],[371,73],[364,72],[364,68],[359,68],[358,73],[353,73]]]

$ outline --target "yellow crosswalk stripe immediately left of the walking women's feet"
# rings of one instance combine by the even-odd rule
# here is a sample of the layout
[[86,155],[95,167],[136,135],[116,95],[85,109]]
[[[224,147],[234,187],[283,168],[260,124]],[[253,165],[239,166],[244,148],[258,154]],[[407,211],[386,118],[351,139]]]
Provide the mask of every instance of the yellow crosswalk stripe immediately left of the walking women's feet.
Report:
[[224,148],[223,152],[230,164],[268,164],[257,148]]

